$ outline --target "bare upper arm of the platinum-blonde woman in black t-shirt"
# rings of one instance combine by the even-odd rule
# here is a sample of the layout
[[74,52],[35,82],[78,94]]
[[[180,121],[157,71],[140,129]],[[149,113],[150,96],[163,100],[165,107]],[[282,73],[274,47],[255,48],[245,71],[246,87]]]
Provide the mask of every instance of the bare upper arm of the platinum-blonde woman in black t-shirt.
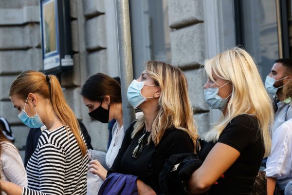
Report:
[[217,143],[201,167],[189,179],[188,191],[190,194],[206,192],[237,160],[239,155],[240,153],[235,148],[223,143]]

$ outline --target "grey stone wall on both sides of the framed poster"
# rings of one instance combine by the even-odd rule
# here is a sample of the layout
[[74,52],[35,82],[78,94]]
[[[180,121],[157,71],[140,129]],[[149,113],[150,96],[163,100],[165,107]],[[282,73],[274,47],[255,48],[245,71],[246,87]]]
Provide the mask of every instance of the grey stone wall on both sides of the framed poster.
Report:
[[[63,93],[77,118],[91,135],[94,149],[106,151],[108,126],[93,121],[79,94],[84,81],[97,72],[118,76],[107,62],[105,0],[70,0],[73,72],[61,76]],[[114,22],[114,21],[113,21]],[[24,70],[42,70],[38,0],[1,0],[0,3],[0,116],[11,124],[21,156],[29,128],[18,119],[9,87]],[[110,74],[114,72],[114,74]]]

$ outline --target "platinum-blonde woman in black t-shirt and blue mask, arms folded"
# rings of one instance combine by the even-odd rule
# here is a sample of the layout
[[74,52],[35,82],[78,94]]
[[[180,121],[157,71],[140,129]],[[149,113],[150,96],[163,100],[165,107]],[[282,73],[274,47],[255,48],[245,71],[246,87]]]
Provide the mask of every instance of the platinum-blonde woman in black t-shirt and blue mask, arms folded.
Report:
[[[227,50],[205,61],[205,100],[223,115],[205,136],[204,160],[188,182],[189,194],[254,195],[254,182],[271,150],[273,106],[252,57]],[[223,175],[223,177],[221,177]],[[213,185],[213,184],[216,185]]]

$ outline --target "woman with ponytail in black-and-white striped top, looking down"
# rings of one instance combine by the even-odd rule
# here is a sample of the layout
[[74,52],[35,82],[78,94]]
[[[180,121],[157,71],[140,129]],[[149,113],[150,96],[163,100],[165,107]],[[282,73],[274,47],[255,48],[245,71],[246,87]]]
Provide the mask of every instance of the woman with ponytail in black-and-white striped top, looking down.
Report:
[[24,71],[9,95],[25,125],[47,129],[27,164],[28,188],[0,180],[1,190],[7,195],[86,195],[87,146],[57,78]]

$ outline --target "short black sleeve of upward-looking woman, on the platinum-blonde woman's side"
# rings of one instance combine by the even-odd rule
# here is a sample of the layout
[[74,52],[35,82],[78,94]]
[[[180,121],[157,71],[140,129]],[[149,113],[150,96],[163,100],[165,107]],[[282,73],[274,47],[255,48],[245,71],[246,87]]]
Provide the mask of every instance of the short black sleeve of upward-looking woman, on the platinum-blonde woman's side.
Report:
[[[175,154],[194,153],[194,142],[191,137],[184,131],[176,129],[169,132],[165,137],[164,149],[167,151],[166,157],[169,158]],[[182,144],[183,143],[183,144]]]

